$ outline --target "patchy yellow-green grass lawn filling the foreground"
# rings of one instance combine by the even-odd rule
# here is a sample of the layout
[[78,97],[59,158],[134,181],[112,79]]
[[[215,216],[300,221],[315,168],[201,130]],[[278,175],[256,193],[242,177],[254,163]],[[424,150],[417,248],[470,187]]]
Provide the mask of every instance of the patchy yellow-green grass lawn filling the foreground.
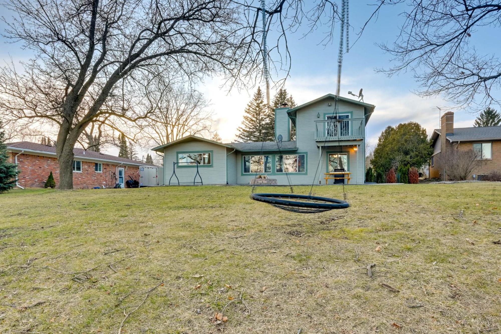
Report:
[[501,333],[501,184],[346,191],[315,215],[249,187],[0,195],[0,332]]

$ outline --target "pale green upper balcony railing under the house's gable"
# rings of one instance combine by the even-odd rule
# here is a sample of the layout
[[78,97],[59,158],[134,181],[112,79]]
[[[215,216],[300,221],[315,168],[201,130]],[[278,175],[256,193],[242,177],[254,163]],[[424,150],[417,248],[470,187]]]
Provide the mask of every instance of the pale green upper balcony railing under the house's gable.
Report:
[[315,121],[315,127],[315,140],[357,140],[364,138],[363,118]]

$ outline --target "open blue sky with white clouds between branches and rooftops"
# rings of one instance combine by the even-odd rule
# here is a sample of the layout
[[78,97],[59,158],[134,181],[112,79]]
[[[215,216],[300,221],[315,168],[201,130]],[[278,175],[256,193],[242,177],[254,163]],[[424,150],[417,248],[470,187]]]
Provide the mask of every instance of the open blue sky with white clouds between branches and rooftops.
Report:
[[[341,81],[341,95],[349,90],[358,92],[364,89],[364,101],[376,105],[374,114],[367,124],[367,140],[375,144],[381,131],[388,125],[397,125],[401,122],[416,121],[423,125],[428,134],[439,123],[438,111],[435,106],[453,106],[440,97],[423,99],[412,93],[418,86],[409,73],[387,78],[384,74],[375,73],[375,68],[391,65],[390,56],[384,54],[376,43],[394,41],[398,34],[402,18],[398,16],[405,5],[383,8],[377,20],[373,20],[364,31],[362,37],[354,45],[349,54],[345,54]],[[370,17],[374,6],[366,2],[351,1],[350,3],[350,41],[353,43],[357,32]],[[5,15],[5,14],[4,14]],[[0,24],[3,31],[5,26]],[[339,29],[339,26],[336,27]],[[326,47],[318,45],[322,40],[322,28],[302,38],[302,30],[289,36],[289,48],[292,54],[292,70],[287,79],[285,88],[293,94],[296,103],[302,104],[309,100],[335,93],[337,76],[337,48],[339,30],[336,30],[335,39]],[[489,43],[490,34],[480,31],[473,36],[475,47],[480,52],[499,54],[501,45]],[[272,36],[273,37],[273,36]],[[271,38],[272,38],[271,37]],[[0,48],[0,58],[14,62],[30,58],[30,54],[21,50],[20,44],[5,44]],[[273,74],[273,79],[281,79],[283,73]],[[223,141],[232,141],[236,128],[240,125],[244,108],[256,87],[248,91],[228,92],[220,88],[222,80],[212,78],[198,85],[206,98],[211,101],[214,126]],[[274,91],[272,91],[272,96]],[[475,114],[467,110],[455,111],[455,127],[472,126]],[[113,152],[113,150],[112,150]]]

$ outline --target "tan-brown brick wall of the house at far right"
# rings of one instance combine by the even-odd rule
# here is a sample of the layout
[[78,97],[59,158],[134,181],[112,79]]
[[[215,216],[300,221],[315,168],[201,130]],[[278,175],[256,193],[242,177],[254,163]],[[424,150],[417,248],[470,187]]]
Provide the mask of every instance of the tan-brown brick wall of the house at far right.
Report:
[[[479,142],[485,142],[485,141],[479,141]],[[473,144],[475,142],[471,141],[464,141],[460,142],[459,146],[457,149],[473,149]],[[470,175],[470,180],[473,180],[473,174],[475,175],[487,175],[490,174],[494,171],[501,173],[501,140],[495,140],[492,141],[492,159],[485,159],[482,161],[480,164],[479,168],[477,168],[473,173]],[[450,144],[449,141],[447,141],[447,148],[448,149],[456,149],[456,143]],[[435,154],[434,155],[434,165],[433,167],[430,166],[430,178],[442,178],[443,174],[443,168],[440,165],[440,154]]]

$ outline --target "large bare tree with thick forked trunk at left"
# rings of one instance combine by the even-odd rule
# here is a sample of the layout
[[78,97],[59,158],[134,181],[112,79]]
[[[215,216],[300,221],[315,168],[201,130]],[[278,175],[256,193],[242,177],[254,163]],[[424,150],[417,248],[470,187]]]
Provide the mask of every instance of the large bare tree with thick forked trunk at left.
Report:
[[[60,188],[73,187],[73,148],[96,119],[148,117],[136,108],[145,82],[223,75],[229,87],[261,80],[258,0],[8,0],[15,17],[6,37],[35,56],[0,70],[0,112],[57,128]],[[332,37],[339,20],[330,0],[275,0],[266,30],[277,27],[276,68],[290,68],[287,33],[303,22]],[[285,50],[284,50],[285,49]],[[270,59],[274,59],[271,57]],[[285,75],[287,77],[287,74]]]

